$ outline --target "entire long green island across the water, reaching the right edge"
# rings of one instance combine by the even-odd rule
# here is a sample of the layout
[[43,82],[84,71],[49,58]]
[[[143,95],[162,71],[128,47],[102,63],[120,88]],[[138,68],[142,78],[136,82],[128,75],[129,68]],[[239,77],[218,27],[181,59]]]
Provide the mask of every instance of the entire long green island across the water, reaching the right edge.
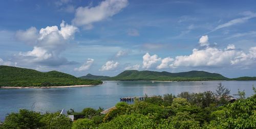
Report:
[[99,76],[87,74],[79,77],[80,79],[92,79],[92,80],[104,80],[104,81],[215,81],[215,80],[226,80],[226,81],[250,81],[256,80],[256,77],[240,77],[229,79],[219,73],[210,73],[206,71],[188,71],[188,72],[158,72],[158,71],[138,71],[138,70],[125,70],[120,74],[110,76]]

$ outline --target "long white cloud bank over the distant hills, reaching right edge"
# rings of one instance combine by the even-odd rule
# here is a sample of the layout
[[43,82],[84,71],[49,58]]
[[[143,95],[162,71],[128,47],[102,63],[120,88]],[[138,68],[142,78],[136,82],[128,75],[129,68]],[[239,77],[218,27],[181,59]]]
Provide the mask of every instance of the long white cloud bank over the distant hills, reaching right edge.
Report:
[[207,47],[205,49],[193,49],[193,53],[188,56],[177,56],[171,67],[227,67],[231,65],[244,66],[255,63],[256,47],[251,47],[249,53],[235,49],[233,44],[229,44],[225,49]]

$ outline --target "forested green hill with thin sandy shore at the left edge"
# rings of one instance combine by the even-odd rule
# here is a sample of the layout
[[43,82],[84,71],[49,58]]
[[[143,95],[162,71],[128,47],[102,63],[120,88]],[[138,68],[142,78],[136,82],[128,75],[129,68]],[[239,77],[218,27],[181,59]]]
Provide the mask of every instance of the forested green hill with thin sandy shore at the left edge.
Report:
[[33,69],[0,66],[0,87],[98,85],[101,83],[96,80],[79,79],[58,71],[39,72]]

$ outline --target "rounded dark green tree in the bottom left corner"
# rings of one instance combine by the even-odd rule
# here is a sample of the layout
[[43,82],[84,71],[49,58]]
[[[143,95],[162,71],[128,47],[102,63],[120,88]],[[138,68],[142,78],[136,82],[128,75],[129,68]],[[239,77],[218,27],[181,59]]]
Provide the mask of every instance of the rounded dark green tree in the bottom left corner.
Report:
[[3,128],[39,128],[40,118],[40,113],[21,109],[19,113],[11,113],[6,117]]

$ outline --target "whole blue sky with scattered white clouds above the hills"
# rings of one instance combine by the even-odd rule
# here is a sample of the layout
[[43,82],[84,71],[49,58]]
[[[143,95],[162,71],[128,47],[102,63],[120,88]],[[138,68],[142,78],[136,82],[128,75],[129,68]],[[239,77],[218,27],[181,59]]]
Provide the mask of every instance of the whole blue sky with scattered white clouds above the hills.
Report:
[[0,1],[0,65],[256,76],[256,1]]

